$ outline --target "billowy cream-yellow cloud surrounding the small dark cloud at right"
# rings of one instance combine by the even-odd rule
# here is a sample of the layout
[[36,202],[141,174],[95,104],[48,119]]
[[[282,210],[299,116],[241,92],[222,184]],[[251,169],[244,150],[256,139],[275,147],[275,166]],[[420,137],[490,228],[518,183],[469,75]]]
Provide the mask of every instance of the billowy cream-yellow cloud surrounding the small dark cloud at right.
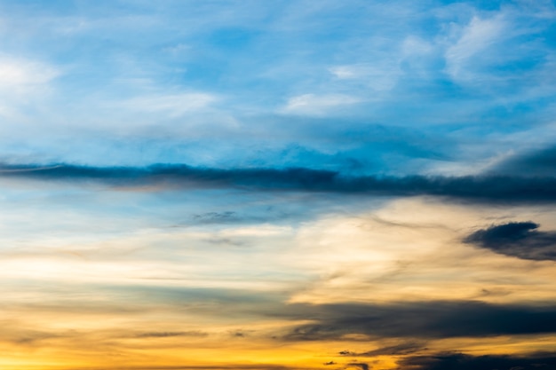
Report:
[[[519,301],[531,294],[553,299],[553,289],[544,286],[553,277],[543,265],[460,241],[483,225],[512,220],[513,212],[412,198],[387,202],[368,214],[330,215],[306,223],[296,234],[296,248],[281,258],[291,271],[319,279],[290,302],[342,302],[346,296],[383,302],[473,299],[482,289],[508,292],[485,300]],[[422,216],[417,220],[416,214]],[[519,214],[540,224],[554,222],[548,209],[522,207]],[[544,281],[534,287],[535,293],[532,279]]]

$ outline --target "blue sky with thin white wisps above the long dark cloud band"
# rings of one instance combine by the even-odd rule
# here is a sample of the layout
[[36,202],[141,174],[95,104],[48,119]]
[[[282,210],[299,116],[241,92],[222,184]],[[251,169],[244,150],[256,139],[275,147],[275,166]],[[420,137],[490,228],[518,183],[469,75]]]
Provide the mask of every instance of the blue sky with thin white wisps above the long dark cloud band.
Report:
[[550,146],[552,2],[3,2],[10,162],[458,173]]

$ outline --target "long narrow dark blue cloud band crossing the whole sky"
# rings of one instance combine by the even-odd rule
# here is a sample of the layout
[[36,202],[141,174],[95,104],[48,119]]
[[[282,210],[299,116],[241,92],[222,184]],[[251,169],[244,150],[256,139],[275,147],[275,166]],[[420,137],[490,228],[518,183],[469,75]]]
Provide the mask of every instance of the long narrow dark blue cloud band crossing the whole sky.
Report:
[[186,165],[96,168],[68,164],[50,167],[4,164],[0,166],[0,176],[84,181],[122,187],[234,187],[391,196],[433,195],[471,201],[556,201],[556,177],[348,177],[338,171],[306,168],[207,169]]

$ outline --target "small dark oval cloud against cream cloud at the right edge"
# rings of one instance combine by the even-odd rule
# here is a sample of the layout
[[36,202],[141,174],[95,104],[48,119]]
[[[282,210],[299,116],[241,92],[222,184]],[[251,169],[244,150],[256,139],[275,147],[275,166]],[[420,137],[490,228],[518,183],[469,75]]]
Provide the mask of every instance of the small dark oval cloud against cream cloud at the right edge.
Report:
[[464,241],[505,256],[556,261],[556,232],[538,232],[539,224],[512,222],[473,232]]

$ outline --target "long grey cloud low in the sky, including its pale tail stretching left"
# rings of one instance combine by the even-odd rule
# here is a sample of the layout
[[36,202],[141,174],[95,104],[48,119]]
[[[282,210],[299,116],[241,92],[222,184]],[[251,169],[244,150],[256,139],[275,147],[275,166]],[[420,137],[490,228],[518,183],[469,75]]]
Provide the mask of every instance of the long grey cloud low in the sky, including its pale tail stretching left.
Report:
[[[139,303],[143,309],[163,305],[203,316],[219,317],[225,314],[238,327],[247,325],[255,318],[290,321],[293,327],[266,334],[274,336],[277,341],[341,340],[346,335],[400,338],[400,342],[390,342],[374,352],[359,353],[361,356],[410,353],[418,349],[420,342],[430,339],[556,333],[556,305],[551,303],[429,301],[287,304],[284,302],[290,296],[288,292],[184,287],[122,289],[126,293],[126,302]],[[115,287],[110,287],[110,290],[115,292]],[[149,302],[155,304],[151,306]],[[308,323],[296,325],[299,321]],[[249,327],[243,327],[239,331],[244,334],[249,330]]]

